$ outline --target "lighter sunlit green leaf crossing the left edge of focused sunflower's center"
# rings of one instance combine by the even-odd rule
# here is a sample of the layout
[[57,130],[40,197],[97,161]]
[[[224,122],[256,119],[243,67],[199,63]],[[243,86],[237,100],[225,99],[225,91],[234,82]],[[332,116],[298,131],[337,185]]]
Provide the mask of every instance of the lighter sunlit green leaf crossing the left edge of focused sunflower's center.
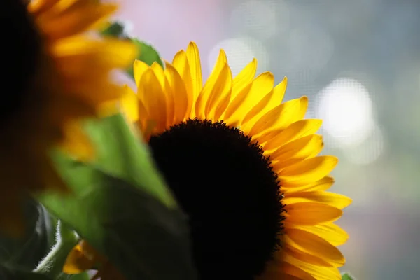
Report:
[[[96,165],[99,169],[127,180],[168,207],[176,207],[172,193],[155,168],[148,145],[135,137],[134,127],[127,125],[124,116],[92,120],[86,124],[86,130],[97,149]],[[67,166],[66,159],[62,160]],[[75,186],[79,184],[75,183]],[[84,188],[83,184],[80,186]]]

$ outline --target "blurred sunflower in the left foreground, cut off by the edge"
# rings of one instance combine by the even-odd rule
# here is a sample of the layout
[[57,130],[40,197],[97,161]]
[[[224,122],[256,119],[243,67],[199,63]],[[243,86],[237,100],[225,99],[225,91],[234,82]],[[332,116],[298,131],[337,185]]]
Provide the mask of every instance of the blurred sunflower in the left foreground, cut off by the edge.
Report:
[[[78,120],[121,96],[110,73],[130,64],[128,42],[99,39],[87,31],[104,25],[116,6],[91,0],[6,0],[6,48],[1,104],[0,228],[22,232],[22,196],[55,188],[66,190],[48,151],[61,146],[81,160],[92,147]],[[6,34],[4,34],[6,32]],[[93,71],[92,71],[93,69]]]

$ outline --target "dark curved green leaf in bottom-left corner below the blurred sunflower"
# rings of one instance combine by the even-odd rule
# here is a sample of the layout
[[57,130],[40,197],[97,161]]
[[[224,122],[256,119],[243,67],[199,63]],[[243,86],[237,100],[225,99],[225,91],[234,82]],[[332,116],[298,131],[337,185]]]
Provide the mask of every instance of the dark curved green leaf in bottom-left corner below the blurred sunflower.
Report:
[[54,222],[48,211],[30,197],[22,207],[25,235],[20,239],[0,237],[0,263],[12,268],[34,269],[54,244]]

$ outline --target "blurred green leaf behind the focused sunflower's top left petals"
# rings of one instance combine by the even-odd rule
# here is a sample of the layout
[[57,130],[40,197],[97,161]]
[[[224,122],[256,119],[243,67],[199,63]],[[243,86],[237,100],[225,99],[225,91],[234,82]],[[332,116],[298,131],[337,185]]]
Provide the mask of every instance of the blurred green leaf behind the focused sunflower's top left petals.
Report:
[[[145,62],[149,66],[153,64],[153,62],[158,62],[160,66],[163,67],[162,59],[160,59],[160,55],[153,46],[137,40],[137,38],[131,38],[127,34],[125,34],[125,27],[123,22],[113,22],[109,27],[106,27],[101,32],[102,36],[111,36],[111,37],[117,37],[117,38],[125,38],[127,40],[131,40],[135,45],[137,45],[137,48],[139,48],[139,56],[136,57],[136,59],[141,60],[142,62]],[[127,69],[127,73],[130,74],[130,76],[133,76],[133,67],[130,66],[129,69]]]

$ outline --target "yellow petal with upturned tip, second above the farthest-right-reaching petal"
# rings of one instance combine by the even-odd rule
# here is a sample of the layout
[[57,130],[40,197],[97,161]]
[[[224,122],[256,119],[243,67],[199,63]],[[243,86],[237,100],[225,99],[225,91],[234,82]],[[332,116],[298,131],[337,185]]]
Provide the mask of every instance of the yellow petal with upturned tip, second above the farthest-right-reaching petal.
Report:
[[337,165],[338,158],[322,155],[290,165],[279,172],[279,179],[288,186],[304,186],[328,175]]

